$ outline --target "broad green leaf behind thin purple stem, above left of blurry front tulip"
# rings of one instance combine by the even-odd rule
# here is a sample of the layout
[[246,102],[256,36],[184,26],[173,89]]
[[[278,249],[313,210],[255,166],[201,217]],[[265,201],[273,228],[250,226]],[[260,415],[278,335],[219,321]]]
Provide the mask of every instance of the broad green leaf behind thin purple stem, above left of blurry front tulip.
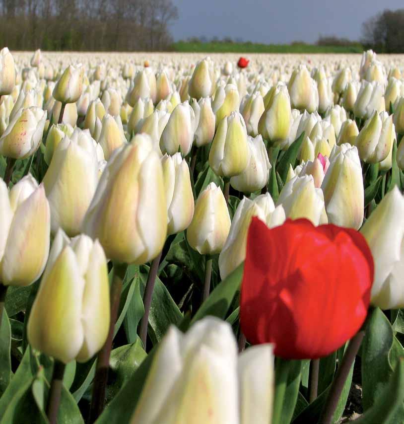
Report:
[[[147,274],[140,273],[142,291],[147,281]],[[149,326],[147,334],[153,345],[158,343],[171,324],[178,324],[183,319],[183,314],[178,309],[166,286],[157,277],[151,297]]]

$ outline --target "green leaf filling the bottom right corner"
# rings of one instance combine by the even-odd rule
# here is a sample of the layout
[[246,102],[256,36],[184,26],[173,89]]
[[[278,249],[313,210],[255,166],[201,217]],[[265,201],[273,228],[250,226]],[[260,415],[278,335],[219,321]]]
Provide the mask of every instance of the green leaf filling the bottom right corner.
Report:
[[375,399],[375,403],[358,419],[355,424],[403,422],[403,414],[397,413],[403,408],[404,401],[404,358],[400,358],[387,386]]

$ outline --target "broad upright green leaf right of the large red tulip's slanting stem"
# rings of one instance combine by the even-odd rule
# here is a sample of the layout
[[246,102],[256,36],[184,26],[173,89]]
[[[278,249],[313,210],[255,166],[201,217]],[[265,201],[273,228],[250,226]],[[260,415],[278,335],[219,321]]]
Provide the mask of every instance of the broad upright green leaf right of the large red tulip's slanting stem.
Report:
[[377,400],[389,381],[389,352],[393,345],[393,329],[386,315],[375,308],[369,311],[362,342],[362,393],[366,411]]

